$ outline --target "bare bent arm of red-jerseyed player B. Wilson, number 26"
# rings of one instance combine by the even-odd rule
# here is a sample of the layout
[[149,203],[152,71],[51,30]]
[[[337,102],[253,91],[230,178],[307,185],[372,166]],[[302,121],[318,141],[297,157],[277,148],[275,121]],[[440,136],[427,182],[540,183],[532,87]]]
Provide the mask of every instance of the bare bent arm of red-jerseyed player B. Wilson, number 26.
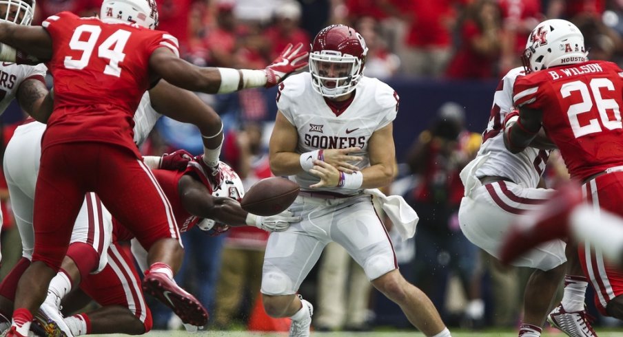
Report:
[[504,145],[511,153],[520,153],[538,135],[541,129],[543,113],[528,107],[519,108],[519,118],[508,120],[504,124]]

